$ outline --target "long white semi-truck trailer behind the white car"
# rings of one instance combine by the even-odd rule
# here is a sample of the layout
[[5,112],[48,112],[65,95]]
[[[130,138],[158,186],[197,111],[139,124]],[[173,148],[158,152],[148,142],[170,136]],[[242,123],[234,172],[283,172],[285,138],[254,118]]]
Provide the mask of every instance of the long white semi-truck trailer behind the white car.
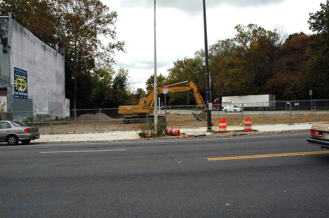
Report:
[[243,95],[222,97],[222,107],[235,105],[243,110],[272,110],[275,107],[275,95]]

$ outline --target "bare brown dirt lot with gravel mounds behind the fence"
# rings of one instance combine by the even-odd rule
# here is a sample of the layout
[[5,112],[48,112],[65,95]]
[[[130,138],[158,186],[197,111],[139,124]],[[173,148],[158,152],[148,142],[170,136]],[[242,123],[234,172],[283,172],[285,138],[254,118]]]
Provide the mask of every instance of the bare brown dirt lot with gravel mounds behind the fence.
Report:
[[[164,114],[159,114],[164,116]],[[295,124],[295,123],[314,123],[329,121],[327,113],[308,113],[308,114],[285,114],[285,113],[265,113],[265,114],[241,114],[227,113],[212,115],[212,126],[218,126],[219,119],[225,118],[227,126],[243,126],[245,117],[252,119],[252,125],[260,124]],[[170,128],[195,128],[206,127],[207,121],[197,121],[192,114],[178,113],[166,114],[167,127]],[[149,123],[154,121],[149,119]],[[83,114],[75,120],[68,121],[53,121],[43,125],[36,123],[39,132],[42,134],[60,134],[74,132],[96,132],[96,131],[137,131],[140,129],[141,123],[124,124],[122,118],[112,118],[106,114]]]

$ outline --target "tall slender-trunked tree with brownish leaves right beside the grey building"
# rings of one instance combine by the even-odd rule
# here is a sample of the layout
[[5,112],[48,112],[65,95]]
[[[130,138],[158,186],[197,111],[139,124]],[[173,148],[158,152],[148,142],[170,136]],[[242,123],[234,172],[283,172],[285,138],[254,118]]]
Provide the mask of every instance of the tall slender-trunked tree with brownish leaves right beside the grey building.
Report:
[[[65,62],[73,80],[72,109],[76,109],[77,85],[83,74],[95,66],[111,67],[114,51],[123,51],[124,43],[115,41],[117,13],[99,0],[56,0],[54,14],[56,36],[66,51]],[[109,37],[104,45],[100,37]]]

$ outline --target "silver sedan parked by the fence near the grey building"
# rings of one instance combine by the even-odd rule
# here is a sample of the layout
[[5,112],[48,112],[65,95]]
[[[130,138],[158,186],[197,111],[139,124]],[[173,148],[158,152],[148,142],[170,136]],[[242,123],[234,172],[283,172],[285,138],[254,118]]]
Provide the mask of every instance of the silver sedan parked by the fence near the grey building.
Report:
[[0,121],[0,142],[17,145],[18,142],[28,144],[33,139],[40,138],[37,127],[29,127],[18,121]]

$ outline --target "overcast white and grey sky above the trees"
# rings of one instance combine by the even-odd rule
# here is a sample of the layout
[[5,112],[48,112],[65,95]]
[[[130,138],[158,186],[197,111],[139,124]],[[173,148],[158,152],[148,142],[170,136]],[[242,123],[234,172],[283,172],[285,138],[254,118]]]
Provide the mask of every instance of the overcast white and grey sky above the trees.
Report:
[[[117,40],[127,53],[117,52],[114,68],[129,70],[132,88],[145,90],[154,73],[154,0],[101,0],[118,13]],[[157,74],[167,75],[173,62],[204,49],[202,0],[156,0]],[[206,0],[208,46],[233,38],[234,27],[252,23],[288,34],[311,33],[310,12],[321,10],[325,0]],[[169,84],[168,84],[169,85]]]

